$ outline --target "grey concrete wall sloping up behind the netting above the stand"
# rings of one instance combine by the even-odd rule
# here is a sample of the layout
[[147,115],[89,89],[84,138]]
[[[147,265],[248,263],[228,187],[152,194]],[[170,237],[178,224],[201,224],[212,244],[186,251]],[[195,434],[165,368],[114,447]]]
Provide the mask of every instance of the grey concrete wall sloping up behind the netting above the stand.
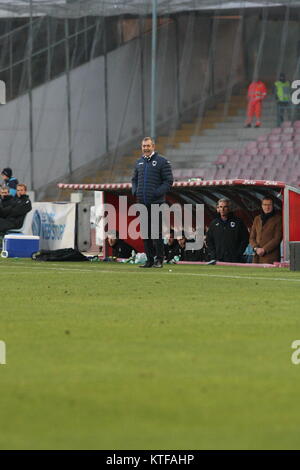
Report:
[[[238,20],[221,21],[212,30],[209,18],[183,14],[176,22],[170,20],[160,27],[158,128],[168,132],[191,108],[201,114],[213,93],[225,96],[228,89],[245,79],[239,24]],[[255,28],[255,21],[253,25]],[[276,69],[271,45],[279,30],[279,25],[270,25],[270,34],[266,35],[266,72]],[[250,41],[253,31],[249,28],[246,33],[249,57],[257,47],[257,42],[253,45]],[[288,43],[293,45],[285,51],[285,70],[295,56],[295,31],[292,28],[288,33]],[[106,59],[99,57],[72,70],[70,107],[67,86],[67,77],[61,76],[32,92],[32,175],[29,97],[21,96],[0,107],[2,167],[11,166],[15,175],[27,183],[33,178],[34,189],[66,177],[70,167],[76,171],[95,159],[104,159],[108,152],[121,153],[128,142],[139,142],[142,135],[149,134],[151,34],[124,44]]]

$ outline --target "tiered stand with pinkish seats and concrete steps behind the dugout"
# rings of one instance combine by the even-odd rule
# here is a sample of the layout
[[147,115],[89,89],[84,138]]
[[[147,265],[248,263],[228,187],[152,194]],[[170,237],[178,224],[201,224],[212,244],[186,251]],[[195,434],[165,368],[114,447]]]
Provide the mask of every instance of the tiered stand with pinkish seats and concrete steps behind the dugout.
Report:
[[[171,161],[175,179],[250,178],[255,175],[256,179],[258,176],[266,177],[266,166],[263,172],[256,171],[256,167],[260,165],[259,152],[251,162],[249,158],[245,158],[239,165],[237,156],[245,153],[248,155],[249,148],[254,148],[259,139],[263,141],[266,136],[271,135],[276,125],[274,98],[268,96],[263,103],[260,128],[244,128],[245,113],[246,99],[243,93],[232,96],[229,105],[219,103],[214,109],[207,110],[202,120],[183,123],[172,134],[159,136],[156,149]],[[137,148],[131,155],[121,157],[113,167],[109,167],[108,163],[107,168],[95,172],[81,182],[128,182],[132,176],[134,162],[140,154],[140,149]],[[268,160],[265,159],[264,165],[267,163]],[[278,165],[279,162],[276,163],[277,170]],[[267,179],[274,179],[271,176],[278,175],[278,172],[279,170],[274,173],[272,169]],[[61,194],[61,197],[66,199],[67,194]]]

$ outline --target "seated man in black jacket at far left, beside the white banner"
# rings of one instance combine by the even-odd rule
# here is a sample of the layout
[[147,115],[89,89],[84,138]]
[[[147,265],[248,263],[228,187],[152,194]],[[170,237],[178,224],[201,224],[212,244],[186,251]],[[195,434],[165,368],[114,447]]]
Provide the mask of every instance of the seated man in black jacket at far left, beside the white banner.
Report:
[[26,184],[18,184],[17,197],[11,205],[1,209],[0,233],[5,234],[8,230],[21,228],[25,215],[31,211],[31,202],[26,194]]

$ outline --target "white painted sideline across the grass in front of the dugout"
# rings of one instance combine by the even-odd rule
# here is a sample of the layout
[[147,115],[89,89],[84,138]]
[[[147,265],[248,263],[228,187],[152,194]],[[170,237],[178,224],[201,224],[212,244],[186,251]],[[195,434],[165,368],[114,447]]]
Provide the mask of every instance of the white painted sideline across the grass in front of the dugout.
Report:
[[[139,276],[142,275],[143,273],[146,274],[146,275],[149,275],[149,274],[152,274],[152,275],[155,275],[157,276],[157,270],[155,268],[153,268],[153,270],[150,270],[150,271],[147,271],[146,272],[144,271],[143,273],[140,272],[140,271],[116,271],[116,270],[112,270],[112,271],[108,271],[108,270],[100,270],[100,269],[97,269],[97,266],[95,266],[95,268],[90,268],[90,269],[80,269],[80,268],[62,268],[60,264],[55,264],[55,267],[44,267],[44,269],[40,269],[40,267],[29,267],[29,266],[26,266],[25,263],[18,263],[18,265],[15,265],[15,266],[5,266],[5,268],[15,268],[15,267],[18,267],[18,266],[24,266],[25,269],[26,269],[26,272],[34,272],[34,271],[38,271],[39,273],[46,273],[47,271],[61,271],[61,272],[64,272],[64,271],[67,271],[67,272],[79,272],[79,273],[91,273],[91,274],[95,274],[95,273],[100,273],[100,274],[138,274]],[[53,263],[51,263],[51,266],[54,266]],[[57,267],[56,267],[57,266]],[[7,271],[0,271],[0,274],[3,274],[3,275],[7,275]],[[20,271],[18,272],[18,274],[20,274]],[[165,276],[169,275],[169,276],[198,276],[198,277],[215,277],[215,278],[222,278],[222,279],[247,279],[247,280],[250,280],[250,281],[287,281],[287,282],[300,282],[300,279],[288,279],[288,278],[284,278],[284,277],[261,277],[261,276],[235,276],[235,275],[231,275],[231,274],[209,274],[209,273],[176,273],[176,272],[172,272],[172,273],[169,273],[168,271],[160,271],[160,274],[163,274]]]

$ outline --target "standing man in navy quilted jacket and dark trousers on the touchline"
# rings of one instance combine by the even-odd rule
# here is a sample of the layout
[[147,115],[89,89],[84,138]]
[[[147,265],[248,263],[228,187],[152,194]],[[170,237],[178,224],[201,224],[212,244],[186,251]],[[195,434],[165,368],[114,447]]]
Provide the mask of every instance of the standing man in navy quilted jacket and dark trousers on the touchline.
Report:
[[[173,184],[170,162],[155,152],[155,144],[151,137],[142,141],[142,157],[135,164],[132,177],[132,194],[137,201],[144,204],[148,212],[148,237],[144,239],[147,262],[141,268],[163,267],[164,242],[159,223],[159,238],[151,239],[151,207],[165,202],[165,195]],[[156,261],[154,263],[154,256]]]

